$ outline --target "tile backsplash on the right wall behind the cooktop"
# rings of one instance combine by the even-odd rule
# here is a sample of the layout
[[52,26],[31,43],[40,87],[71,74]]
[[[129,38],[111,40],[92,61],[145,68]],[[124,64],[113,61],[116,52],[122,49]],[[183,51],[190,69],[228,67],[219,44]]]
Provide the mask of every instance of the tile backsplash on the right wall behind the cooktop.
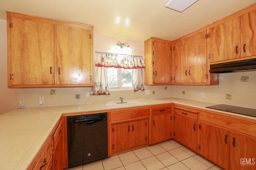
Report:
[[222,73],[220,84],[216,86],[172,86],[172,96],[256,108],[256,71]]

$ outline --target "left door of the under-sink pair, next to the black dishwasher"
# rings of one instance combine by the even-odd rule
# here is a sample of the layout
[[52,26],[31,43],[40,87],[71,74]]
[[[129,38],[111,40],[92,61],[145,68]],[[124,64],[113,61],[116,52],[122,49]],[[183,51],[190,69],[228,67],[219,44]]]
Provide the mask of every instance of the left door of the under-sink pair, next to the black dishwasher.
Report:
[[130,143],[130,134],[132,133],[131,123],[117,123],[113,124],[112,128],[114,128],[113,135],[113,143],[112,143],[112,152],[119,152],[121,150],[126,150],[131,148]]

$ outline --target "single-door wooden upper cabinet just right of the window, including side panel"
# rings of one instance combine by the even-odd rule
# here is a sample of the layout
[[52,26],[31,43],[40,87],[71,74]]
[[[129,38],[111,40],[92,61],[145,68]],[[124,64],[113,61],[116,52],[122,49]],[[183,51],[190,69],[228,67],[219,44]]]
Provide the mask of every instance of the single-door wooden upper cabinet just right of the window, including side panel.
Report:
[[161,85],[172,83],[172,42],[150,38],[145,46],[145,84]]

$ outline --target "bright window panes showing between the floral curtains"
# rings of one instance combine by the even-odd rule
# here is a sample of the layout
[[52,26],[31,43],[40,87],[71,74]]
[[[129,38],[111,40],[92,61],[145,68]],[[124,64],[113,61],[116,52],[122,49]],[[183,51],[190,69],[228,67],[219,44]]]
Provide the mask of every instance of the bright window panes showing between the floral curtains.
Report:
[[109,88],[132,88],[132,69],[108,68],[107,79]]

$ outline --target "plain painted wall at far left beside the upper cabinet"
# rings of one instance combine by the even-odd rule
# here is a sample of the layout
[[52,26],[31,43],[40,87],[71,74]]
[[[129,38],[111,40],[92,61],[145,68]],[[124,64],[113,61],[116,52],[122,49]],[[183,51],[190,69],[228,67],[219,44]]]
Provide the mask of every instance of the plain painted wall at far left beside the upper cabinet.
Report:
[[7,88],[7,32],[6,20],[0,20],[0,114],[18,106],[19,90]]

